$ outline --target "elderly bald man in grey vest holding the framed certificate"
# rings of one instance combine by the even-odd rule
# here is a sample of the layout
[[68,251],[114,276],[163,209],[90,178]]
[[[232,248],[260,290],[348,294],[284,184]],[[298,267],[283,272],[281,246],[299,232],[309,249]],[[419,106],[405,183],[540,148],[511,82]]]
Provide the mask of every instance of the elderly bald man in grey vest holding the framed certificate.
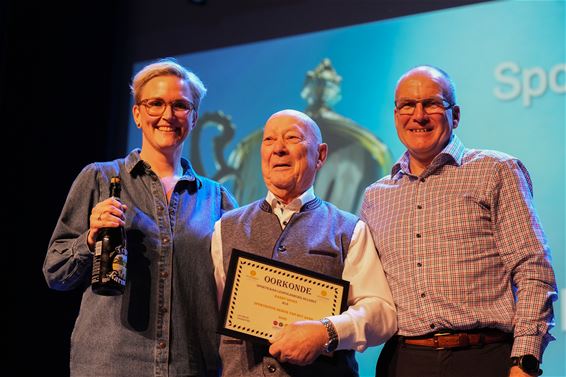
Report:
[[[219,300],[232,250],[239,249],[349,281],[349,307],[336,316],[288,325],[270,347],[223,336],[224,376],[357,376],[354,351],[385,342],[397,329],[368,227],[314,194],[327,149],[307,115],[273,114],[261,145],[267,197],[217,221],[212,259]],[[335,352],[321,356],[323,351]]]

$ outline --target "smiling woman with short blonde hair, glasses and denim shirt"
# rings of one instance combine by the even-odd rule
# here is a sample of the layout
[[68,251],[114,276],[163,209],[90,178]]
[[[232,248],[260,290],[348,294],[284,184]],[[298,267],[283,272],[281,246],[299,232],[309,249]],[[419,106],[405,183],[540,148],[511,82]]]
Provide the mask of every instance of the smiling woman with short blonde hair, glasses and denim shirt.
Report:
[[[71,337],[71,375],[216,375],[210,235],[236,203],[182,157],[206,88],[165,59],[138,72],[131,89],[141,149],[82,170],[43,267],[51,288],[83,291]],[[122,183],[119,201],[108,198],[113,176]],[[97,295],[90,287],[96,238],[101,229],[119,226],[127,235],[125,292]]]

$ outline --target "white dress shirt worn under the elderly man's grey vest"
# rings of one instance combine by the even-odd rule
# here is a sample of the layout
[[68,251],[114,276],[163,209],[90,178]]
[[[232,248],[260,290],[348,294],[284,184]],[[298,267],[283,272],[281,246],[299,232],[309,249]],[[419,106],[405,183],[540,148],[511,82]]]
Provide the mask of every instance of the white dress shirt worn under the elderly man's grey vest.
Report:
[[[311,187],[286,205],[269,191],[265,200],[285,228],[291,216],[314,198]],[[212,234],[211,253],[219,306],[226,282],[221,232],[221,220],[218,220]],[[387,341],[397,331],[397,312],[369,228],[363,221],[358,221],[354,228],[342,279],[350,282],[348,309],[328,317],[338,333],[338,349],[362,352]]]

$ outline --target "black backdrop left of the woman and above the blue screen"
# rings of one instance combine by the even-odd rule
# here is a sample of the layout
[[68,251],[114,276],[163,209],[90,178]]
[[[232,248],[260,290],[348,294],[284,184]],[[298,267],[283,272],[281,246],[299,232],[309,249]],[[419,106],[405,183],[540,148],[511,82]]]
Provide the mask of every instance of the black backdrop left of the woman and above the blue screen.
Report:
[[[131,65],[480,1],[99,0],[0,4],[3,375],[67,376],[79,294],[41,267],[83,166],[125,153]],[[6,190],[5,190],[6,192]]]

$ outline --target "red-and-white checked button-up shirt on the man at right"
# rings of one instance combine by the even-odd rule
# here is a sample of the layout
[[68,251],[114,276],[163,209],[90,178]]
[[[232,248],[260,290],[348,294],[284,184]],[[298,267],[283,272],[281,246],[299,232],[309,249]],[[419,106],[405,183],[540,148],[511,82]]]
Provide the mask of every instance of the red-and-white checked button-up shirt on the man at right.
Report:
[[550,250],[523,164],[453,136],[420,176],[406,152],[369,186],[369,225],[397,306],[399,335],[497,328],[512,356],[540,359],[554,338]]

